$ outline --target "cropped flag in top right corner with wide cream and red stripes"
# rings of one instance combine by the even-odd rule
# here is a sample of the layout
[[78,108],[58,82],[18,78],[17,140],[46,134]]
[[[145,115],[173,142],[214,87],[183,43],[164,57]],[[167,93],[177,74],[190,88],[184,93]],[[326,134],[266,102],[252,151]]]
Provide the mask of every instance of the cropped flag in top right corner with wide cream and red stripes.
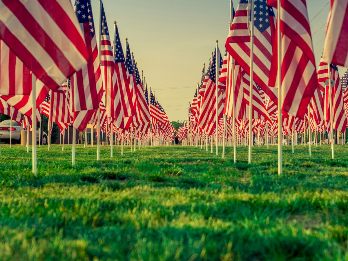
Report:
[[330,0],[323,62],[348,67],[348,0]]

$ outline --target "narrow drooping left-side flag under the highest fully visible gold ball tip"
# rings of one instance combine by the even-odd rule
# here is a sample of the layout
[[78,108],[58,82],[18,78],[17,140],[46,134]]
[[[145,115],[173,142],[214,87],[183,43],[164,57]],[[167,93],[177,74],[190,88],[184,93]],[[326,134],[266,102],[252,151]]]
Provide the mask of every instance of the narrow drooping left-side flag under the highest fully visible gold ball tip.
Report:
[[117,75],[117,86],[120,93],[120,101],[122,108],[122,124],[118,127],[128,129],[133,122],[135,116],[135,93],[130,84],[130,77],[125,65],[125,56],[123,53],[121,39],[116,25],[116,34],[114,39],[114,58]]

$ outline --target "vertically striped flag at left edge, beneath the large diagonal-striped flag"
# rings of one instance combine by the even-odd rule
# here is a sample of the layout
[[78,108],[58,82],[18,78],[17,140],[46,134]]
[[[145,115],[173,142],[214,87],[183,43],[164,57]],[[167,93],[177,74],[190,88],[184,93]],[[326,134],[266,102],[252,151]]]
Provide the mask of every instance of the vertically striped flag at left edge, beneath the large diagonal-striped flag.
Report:
[[0,94],[30,94],[30,70],[18,56],[0,40]]

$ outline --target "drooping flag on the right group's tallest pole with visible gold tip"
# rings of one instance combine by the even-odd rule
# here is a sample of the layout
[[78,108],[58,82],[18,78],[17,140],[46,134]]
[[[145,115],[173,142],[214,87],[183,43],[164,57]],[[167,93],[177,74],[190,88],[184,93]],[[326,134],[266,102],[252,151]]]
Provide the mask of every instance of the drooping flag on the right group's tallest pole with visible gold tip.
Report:
[[[216,59],[217,57],[217,59]],[[211,66],[209,68],[208,80],[206,82],[204,96],[201,100],[200,113],[198,118],[198,127],[205,130],[209,135],[212,135],[214,128],[216,128],[216,114],[217,118],[220,118],[223,110],[223,93],[218,92],[216,97],[216,85],[215,85],[215,70],[216,60],[219,64],[218,71],[221,70],[222,57],[219,47],[216,46],[215,52],[212,58]],[[203,88],[202,88],[203,89]],[[216,99],[217,105],[216,108]]]

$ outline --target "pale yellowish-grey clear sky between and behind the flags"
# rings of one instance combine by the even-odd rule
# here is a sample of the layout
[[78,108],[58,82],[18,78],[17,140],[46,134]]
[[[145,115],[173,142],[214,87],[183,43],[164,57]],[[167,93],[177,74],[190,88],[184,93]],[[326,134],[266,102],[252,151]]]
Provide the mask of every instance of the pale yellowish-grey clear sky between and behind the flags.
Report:
[[[91,1],[98,27],[99,1]],[[307,0],[317,66],[324,45],[328,2]],[[239,0],[233,3],[236,9]],[[117,21],[121,39],[128,38],[140,73],[144,71],[148,87],[155,90],[168,118],[187,119],[188,104],[215,40],[219,40],[220,51],[225,50],[230,0],[104,0],[103,5],[110,37],[113,21]],[[124,43],[122,46],[125,48]],[[339,72],[342,76],[345,68],[339,68]]]

